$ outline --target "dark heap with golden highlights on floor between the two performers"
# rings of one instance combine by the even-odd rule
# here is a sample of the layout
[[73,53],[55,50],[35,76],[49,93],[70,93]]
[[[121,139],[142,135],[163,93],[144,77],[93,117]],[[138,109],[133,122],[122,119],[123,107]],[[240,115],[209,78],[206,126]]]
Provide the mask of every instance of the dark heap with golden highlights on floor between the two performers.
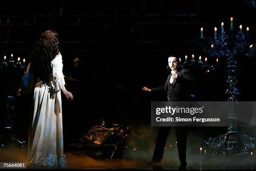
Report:
[[72,151],[78,155],[88,155],[94,158],[121,158],[130,136],[130,128],[118,124],[92,127],[80,143],[69,144]]

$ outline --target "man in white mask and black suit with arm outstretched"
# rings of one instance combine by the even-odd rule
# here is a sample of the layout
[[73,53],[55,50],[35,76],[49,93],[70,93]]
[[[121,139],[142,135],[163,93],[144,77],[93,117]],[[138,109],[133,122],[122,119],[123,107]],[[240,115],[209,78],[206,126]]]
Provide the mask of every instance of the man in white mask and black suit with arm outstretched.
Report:
[[[194,81],[188,69],[182,68],[179,60],[175,55],[168,58],[169,67],[172,72],[169,74],[166,83],[160,87],[149,89],[143,87],[142,90],[146,92],[164,92],[167,94],[169,103],[172,101],[189,101],[192,82]],[[151,164],[160,163],[164,155],[164,147],[166,144],[167,136],[172,127],[163,126],[159,128],[156,145]],[[187,127],[176,127],[177,146],[179,152],[179,160],[181,167],[187,166],[186,161],[186,148],[187,148]]]

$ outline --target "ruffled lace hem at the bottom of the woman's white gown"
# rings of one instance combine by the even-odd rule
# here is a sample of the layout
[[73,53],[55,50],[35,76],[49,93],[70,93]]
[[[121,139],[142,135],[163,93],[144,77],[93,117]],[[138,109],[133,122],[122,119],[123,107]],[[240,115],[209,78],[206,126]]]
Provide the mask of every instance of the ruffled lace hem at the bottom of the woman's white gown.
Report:
[[64,168],[67,167],[67,161],[65,155],[60,156],[60,159],[58,161],[57,156],[52,156],[51,158],[45,158],[40,161],[28,163],[28,166],[31,167],[53,167],[53,168]]

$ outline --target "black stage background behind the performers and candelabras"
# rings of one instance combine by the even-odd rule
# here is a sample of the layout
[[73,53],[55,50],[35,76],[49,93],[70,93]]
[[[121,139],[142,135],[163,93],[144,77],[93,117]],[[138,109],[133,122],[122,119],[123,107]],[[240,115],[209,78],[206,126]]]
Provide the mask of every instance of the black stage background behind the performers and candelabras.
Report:
[[[197,45],[200,28],[204,37],[213,37],[214,27],[219,32],[221,22],[225,30],[230,28],[230,17],[236,31],[240,24],[244,31],[249,27],[255,42],[256,13],[246,0],[1,0],[0,58],[7,55],[9,59],[11,53],[15,60],[26,58],[44,30],[59,33],[66,87],[74,96],[72,102],[63,98],[68,143],[78,140],[102,117],[127,124],[131,130],[149,127],[150,102],[166,97],[143,93],[142,86],[164,83],[172,53],[182,61],[185,55],[191,60],[195,54],[197,60],[202,55]],[[254,63],[255,59],[246,58],[239,62],[240,101],[254,101]],[[194,77],[198,101],[226,101],[225,70]],[[8,73],[2,78],[5,101],[13,77]],[[20,80],[15,81],[18,90]],[[26,139],[30,96],[16,97],[16,102],[17,128]],[[1,111],[4,107],[2,103]],[[205,130],[207,136],[226,132],[226,128]]]

